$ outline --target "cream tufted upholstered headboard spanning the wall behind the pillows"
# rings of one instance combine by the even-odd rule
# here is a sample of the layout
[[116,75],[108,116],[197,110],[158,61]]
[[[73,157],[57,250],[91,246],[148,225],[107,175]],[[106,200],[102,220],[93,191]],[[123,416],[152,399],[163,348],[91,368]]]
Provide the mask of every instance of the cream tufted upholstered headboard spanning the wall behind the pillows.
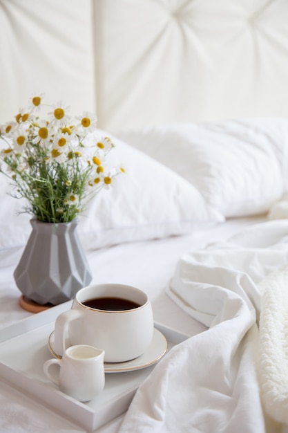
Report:
[[109,131],[288,116],[287,0],[0,0],[0,123],[33,91]]

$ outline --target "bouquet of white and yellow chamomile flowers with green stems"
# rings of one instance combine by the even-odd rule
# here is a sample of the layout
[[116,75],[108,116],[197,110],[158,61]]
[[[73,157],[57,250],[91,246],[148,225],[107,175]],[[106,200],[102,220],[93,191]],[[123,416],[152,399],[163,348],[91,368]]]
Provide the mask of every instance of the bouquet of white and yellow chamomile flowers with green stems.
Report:
[[[0,172],[15,186],[11,195],[27,200],[24,212],[46,223],[66,223],[124,169],[106,165],[114,147],[110,138],[85,140],[96,130],[95,115],[84,112],[72,122],[70,107],[43,100],[42,94],[33,96],[28,109],[0,126]],[[41,109],[48,111],[46,120]]]

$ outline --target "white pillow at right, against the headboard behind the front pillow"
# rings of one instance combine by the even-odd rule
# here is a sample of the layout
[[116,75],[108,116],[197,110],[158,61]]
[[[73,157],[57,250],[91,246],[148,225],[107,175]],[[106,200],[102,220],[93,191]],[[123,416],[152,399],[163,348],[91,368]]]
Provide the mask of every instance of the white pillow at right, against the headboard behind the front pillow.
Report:
[[195,185],[224,216],[267,212],[287,183],[286,119],[158,125],[117,136]]

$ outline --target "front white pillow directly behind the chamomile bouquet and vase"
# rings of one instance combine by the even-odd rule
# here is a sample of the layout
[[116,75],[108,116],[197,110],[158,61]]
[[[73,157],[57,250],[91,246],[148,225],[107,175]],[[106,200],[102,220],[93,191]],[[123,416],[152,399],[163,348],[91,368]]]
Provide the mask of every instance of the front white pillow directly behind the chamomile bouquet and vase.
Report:
[[[113,138],[113,142],[109,163],[121,163],[127,174],[117,176],[111,190],[95,196],[79,216],[77,232],[84,248],[185,234],[224,220],[191,183],[121,140]],[[23,245],[31,231],[31,216],[17,216],[24,203],[7,195],[5,176],[0,176],[0,182],[4,203],[0,208],[0,248]]]

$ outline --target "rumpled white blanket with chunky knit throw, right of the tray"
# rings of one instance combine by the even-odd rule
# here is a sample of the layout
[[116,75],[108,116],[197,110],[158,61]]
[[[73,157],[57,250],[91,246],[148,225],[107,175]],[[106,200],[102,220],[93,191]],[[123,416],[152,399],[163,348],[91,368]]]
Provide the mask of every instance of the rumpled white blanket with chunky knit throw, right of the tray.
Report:
[[287,220],[254,225],[181,257],[167,293],[208,329],[158,363],[120,432],[285,430],[287,264]]

